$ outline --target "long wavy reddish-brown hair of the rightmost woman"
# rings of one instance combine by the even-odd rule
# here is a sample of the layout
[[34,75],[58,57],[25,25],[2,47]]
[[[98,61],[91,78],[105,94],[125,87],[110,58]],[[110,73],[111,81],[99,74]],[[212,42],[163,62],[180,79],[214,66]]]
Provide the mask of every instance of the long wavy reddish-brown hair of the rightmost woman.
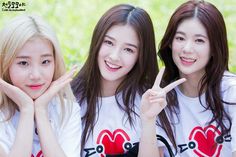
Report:
[[[228,43],[226,26],[222,14],[211,3],[190,0],[179,6],[169,21],[164,37],[159,45],[158,55],[165,64],[165,73],[161,86],[166,86],[172,81],[179,78],[179,70],[172,59],[172,44],[176,30],[181,22],[189,18],[197,18],[205,27],[210,41],[211,58],[205,67],[205,74],[201,78],[199,85],[199,100],[200,95],[205,91],[206,95],[206,110],[212,111],[212,119],[209,123],[216,122],[217,128],[221,128],[222,135],[227,134],[231,128],[231,120],[225,112],[221,96],[220,84],[225,70],[228,70]],[[214,79],[212,79],[214,78]],[[172,90],[167,95],[168,110],[173,114],[178,114],[178,100],[175,90]],[[203,106],[201,100],[201,105]],[[176,147],[173,131],[170,127],[170,122],[167,119],[165,111],[159,115],[161,126],[167,132],[171,142]],[[229,122],[229,127],[223,123],[223,119]]]

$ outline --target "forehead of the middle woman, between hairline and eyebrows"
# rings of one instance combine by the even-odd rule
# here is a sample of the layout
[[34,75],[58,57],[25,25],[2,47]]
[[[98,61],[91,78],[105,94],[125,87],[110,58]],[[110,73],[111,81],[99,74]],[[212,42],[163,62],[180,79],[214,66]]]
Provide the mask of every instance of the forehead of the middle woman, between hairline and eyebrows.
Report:
[[138,46],[139,39],[135,29],[129,25],[114,25],[106,33],[106,35],[117,41],[129,43]]

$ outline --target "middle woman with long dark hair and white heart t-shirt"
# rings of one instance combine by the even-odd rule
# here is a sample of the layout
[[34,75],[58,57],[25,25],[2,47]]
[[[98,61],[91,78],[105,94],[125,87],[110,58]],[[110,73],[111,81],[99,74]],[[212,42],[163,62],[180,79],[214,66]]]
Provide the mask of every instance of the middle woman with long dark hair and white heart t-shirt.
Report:
[[124,155],[138,144],[141,96],[157,73],[147,12],[126,4],[109,9],[97,23],[88,58],[72,81],[82,108],[82,156]]

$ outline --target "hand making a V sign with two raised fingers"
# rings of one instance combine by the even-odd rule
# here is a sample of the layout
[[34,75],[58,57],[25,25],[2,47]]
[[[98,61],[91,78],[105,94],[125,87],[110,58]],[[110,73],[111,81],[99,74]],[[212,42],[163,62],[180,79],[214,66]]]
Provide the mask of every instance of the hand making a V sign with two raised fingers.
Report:
[[165,88],[160,87],[165,68],[158,73],[153,87],[142,95],[141,116],[145,119],[156,119],[156,116],[166,107],[166,94],[179,84],[186,81],[185,78],[172,82]]

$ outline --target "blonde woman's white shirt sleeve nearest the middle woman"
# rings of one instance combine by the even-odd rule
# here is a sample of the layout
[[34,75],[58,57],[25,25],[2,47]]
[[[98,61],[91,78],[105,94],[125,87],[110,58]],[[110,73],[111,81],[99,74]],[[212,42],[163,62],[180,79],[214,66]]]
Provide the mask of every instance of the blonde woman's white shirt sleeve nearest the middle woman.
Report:
[[59,143],[68,157],[79,157],[81,149],[81,116],[79,104],[74,103],[68,121],[59,132]]

